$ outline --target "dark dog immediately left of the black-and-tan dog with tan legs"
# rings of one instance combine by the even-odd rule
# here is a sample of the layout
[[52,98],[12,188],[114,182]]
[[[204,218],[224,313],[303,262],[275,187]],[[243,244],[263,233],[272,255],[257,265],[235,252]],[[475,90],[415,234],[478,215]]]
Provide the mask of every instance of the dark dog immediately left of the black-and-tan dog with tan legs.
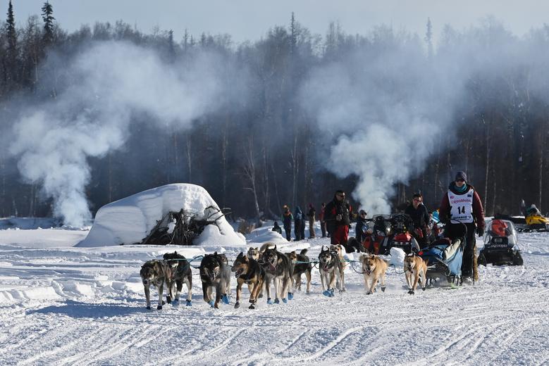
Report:
[[[226,264],[226,256],[223,254],[206,254],[200,262],[200,280],[202,281],[202,293],[204,301],[212,308],[219,308],[219,301],[223,297],[223,303],[229,303],[230,294],[230,267]],[[216,300],[211,298],[212,288],[216,289]]]

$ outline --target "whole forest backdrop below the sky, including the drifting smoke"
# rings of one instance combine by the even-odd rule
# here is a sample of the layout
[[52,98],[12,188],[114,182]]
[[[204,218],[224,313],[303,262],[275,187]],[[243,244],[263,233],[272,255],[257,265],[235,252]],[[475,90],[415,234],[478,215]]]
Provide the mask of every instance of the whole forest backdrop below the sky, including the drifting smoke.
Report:
[[518,214],[522,199],[548,211],[549,25],[313,34],[291,13],[236,43],[185,24],[181,39],[123,20],[68,32],[48,2],[27,19],[5,10],[0,217],[78,225],[175,182],[233,217],[318,211],[336,189],[369,215],[417,191],[434,210],[457,170],[486,215]]

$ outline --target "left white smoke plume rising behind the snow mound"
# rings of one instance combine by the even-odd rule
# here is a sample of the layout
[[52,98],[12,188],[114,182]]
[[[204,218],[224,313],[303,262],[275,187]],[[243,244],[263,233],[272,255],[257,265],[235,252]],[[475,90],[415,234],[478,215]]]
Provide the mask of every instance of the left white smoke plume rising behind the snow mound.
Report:
[[183,129],[223,107],[227,96],[241,95],[234,81],[233,92],[226,93],[216,71],[220,64],[206,52],[185,65],[170,64],[150,49],[124,42],[87,48],[68,61],[66,74],[73,77],[68,87],[47,103],[26,105],[14,124],[10,150],[21,175],[53,198],[54,215],[66,225],[82,226],[91,218],[87,159],[121,149],[135,115],[146,115],[161,129]]

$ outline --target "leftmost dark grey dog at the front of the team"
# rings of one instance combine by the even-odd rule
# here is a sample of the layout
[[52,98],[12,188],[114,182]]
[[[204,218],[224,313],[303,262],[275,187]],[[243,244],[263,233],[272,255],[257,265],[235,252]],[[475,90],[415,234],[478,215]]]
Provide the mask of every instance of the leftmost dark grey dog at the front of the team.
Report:
[[168,303],[170,302],[170,299],[172,298],[171,278],[173,276],[173,271],[175,270],[175,267],[177,267],[177,265],[177,263],[175,263],[175,265],[168,265],[165,260],[154,259],[145,262],[141,266],[139,274],[141,276],[141,282],[143,283],[145,290],[147,309],[151,309],[150,286],[156,286],[159,291],[159,305],[156,306],[157,310],[162,310],[162,305],[164,305],[164,301],[162,301],[162,295],[164,293],[164,283],[166,283],[168,290]]

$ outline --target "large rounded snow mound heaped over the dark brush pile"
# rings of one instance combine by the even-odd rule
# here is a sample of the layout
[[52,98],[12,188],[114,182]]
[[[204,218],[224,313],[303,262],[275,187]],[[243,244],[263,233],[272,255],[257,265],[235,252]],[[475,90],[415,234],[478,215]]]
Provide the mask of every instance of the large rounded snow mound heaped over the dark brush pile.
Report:
[[[140,243],[168,212],[183,209],[197,213],[201,220],[209,215],[209,206],[218,208],[208,191],[195,184],[167,184],[142,191],[99,208],[90,233],[76,246]],[[219,217],[217,225],[208,225],[195,244],[245,244],[225,217]]]

